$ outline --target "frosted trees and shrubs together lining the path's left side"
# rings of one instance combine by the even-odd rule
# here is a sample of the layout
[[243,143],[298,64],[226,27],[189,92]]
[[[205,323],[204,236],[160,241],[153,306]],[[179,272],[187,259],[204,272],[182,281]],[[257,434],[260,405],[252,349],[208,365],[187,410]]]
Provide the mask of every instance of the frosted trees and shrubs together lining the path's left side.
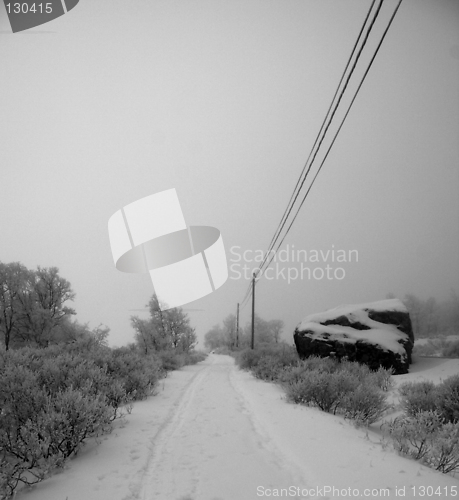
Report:
[[150,318],[131,318],[134,342],[108,346],[66,304],[57,268],[0,263],[0,499],[49,477],[89,438],[110,433],[168,371],[205,359],[181,309],[153,296]]

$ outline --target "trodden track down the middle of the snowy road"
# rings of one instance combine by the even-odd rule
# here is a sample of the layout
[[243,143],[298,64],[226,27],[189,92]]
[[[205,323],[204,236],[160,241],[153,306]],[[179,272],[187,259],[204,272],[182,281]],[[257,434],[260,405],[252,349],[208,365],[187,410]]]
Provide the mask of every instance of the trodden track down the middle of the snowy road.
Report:
[[142,500],[255,498],[259,485],[304,484],[257,426],[233,360],[211,360],[194,374],[153,443]]

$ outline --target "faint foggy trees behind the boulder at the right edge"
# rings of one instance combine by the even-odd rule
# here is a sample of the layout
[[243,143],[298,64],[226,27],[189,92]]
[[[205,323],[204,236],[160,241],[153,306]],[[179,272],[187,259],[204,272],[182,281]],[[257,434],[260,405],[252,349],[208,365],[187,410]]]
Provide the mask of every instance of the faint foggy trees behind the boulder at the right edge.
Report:
[[[395,295],[389,294],[387,298]],[[441,301],[434,297],[422,300],[408,293],[402,302],[410,313],[415,338],[459,334],[459,296],[455,290]]]

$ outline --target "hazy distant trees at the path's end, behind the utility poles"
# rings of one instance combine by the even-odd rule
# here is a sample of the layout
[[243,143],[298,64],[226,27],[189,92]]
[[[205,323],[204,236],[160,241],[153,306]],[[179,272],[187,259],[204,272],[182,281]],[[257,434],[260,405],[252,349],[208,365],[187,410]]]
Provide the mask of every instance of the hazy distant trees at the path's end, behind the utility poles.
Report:
[[[284,328],[284,322],[280,319],[266,321],[257,314],[255,315],[255,343],[276,344],[280,342],[280,335]],[[230,351],[244,349],[251,345],[252,323],[251,321],[236,332],[236,316],[229,314],[223,325],[213,326],[204,336],[204,345],[208,349],[226,348]]]

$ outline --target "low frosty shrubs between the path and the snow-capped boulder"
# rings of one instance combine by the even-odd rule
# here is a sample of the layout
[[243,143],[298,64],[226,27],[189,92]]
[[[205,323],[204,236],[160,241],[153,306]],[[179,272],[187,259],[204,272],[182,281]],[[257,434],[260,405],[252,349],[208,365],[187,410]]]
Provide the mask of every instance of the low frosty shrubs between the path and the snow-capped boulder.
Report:
[[280,384],[289,402],[342,415],[358,426],[376,422],[389,407],[390,370],[372,372],[357,362],[314,356],[300,360],[288,345],[246,349],[236,362],[255,377]]

